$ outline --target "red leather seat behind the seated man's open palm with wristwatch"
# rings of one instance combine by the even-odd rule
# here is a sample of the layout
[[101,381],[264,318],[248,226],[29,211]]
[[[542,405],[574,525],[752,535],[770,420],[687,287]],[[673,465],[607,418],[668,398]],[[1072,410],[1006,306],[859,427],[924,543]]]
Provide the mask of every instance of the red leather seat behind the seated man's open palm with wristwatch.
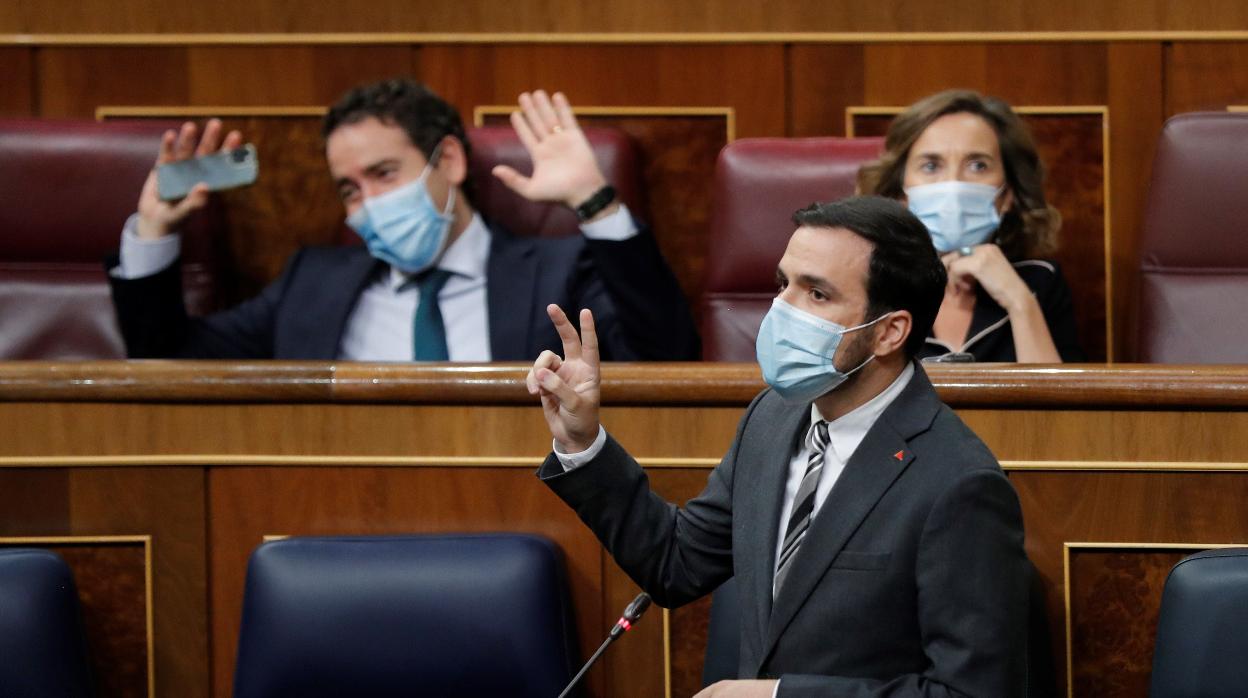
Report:
[[[633,215],[645,220],[641,154],[636,141],[618,129],[587,127],[584,131],[598,157],[598,166],[615,187],[620,201]],[[533,161],[510,126],[468,129],[468,141],[472,144],[468,177],[477,190],[473,206],[483,216],[525,237],[563,237],[577,232],[577,215],[567,206],[529,201],[490,174],[495,165],[509,165],[523,175],[533,174]],[[349,245],[361,242],[346,226],[341,241]]]

